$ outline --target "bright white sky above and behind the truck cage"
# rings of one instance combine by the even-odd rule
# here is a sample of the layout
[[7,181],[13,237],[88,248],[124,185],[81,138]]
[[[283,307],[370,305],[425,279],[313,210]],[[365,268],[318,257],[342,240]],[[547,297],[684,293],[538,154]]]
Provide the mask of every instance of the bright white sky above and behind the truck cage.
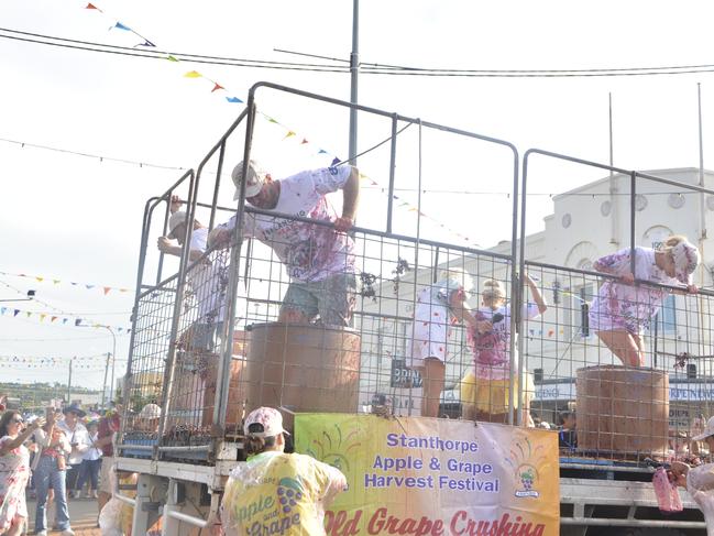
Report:
[[[0,26],[56,37],[134,46],[134,34],[158,50],[249,59],[330,64],[274,52],[299,51],[348,58],[352,3],[342,0],[167,1],[106,0],[87,10],[75,0],[4,0]],[[461,69],[600,69],[712,64],[707,2],[512,1],[361,2],[361,59],[365,63]],[[0,35],[15,35],[0,32]],[[338,64],[339,65],[339,64]],[[186,78],[197,70],[204,78]],[[111,351],[107,330],[85,324],[130,327],[133,288],[146,198],[180,175],[175,169],[117,163],[109,158],[196,167],[241,111],[226,96],[244,99],[259,80],[331,97],[349,98],[349,75],[173,63],[0,37],[0,299],[36,289],[35,302],[3,302],[21,309],[0,315],[3,380],[66,380],[66,360],[87,357],[73,383],[99,386],[102,358]],[[529,147],[598,162],[608,160],[608,92],[614,102],[614,161],[626,168],[697,166],[696,84],[702,85],[705,165],[714,124],[714,74],[622,77],[417,77],[364,74],[361,103],[440,122]],[[211,92],[212,83],[227,90]],[[347,154],[347,113],[265,92],[259,108],[278,120],[256,125],[255,150],[279,176]],[[296,132],[283,140],[285,127]],[[388,135],[385,121],[361,118],[360,149]],[[400,136],[397,186],[417,186],[417,130]],[[307,139],[308,144],[299,141]],[[43,145],[101,155],[79,156],[35,149]],[[323,149],[329,158],[318,154]],[[230,155],[232,167],[238,156]],[[360,161],[361,171],[386,185],[386,147]],[[454,229],[484,247],[509,237],[508,155],[484,144],[426,133],[422,145],[422,231],[463,243]],[[593,173],[534,162],[532,192],[557,194]],[[363,183],[372,186],[371,182]],[[471,192],[444,194],[433,190]],[[475,194],[479,193],[479,194]],[[220,200],[231,204],[232,189]],[[416,205],[415,192],[403,199]],[[386,198],[365,189],[360,223],[381,228]],[[530,200],[530,199],[529,199]],[[529,230],[549,214],[548,196],[534,196]],[[397,209],[398,230],[411,232],[414,212]],[[443,223],[439,227],[436,222]],[[150,244],[153,247],[155,237]],[[31,274],[43,282],[7,274]],[[54,284],[50,280],[59,280]],[[72,285],[69,282],[81,283]],[[96,287],[116,287],[105,295]],[[8,286],[9,285],[9,286]],[[42,300],[43,303],[40,303]],[[33,313],[28,318],[25,311]],[[59,311],[59,313],[58,313]],[[43,321],[40,314],[48,316]],[[58,319],[51,321],[52,316]],[[118,358],[129,338],[118,333]],[[29,368],[7,360],[56,358]],[[10,364],[11,367],[7,367]],[[118,369],[122,369],[122,362]]]

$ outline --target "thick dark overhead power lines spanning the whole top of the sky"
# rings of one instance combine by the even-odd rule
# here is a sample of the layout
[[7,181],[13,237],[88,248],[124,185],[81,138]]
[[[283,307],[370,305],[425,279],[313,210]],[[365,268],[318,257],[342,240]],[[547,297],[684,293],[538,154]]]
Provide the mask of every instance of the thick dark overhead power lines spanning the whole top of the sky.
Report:
[[[0,37],[26,43],[58,46],[64,48],[116,54],[152,59],[167,59],[167,55],[178,61],[198,64],[226,65],[233,67],[254,67],[286,70],[306,70],[314,73],[349,73],[349,67],[326,64],[274,62],[268,59],[231,58],[223,56],[206,56],[190,53],[167,53],[155,50],[130,48],[127,46],[107,45],[87,41],[55,37],[51,35],[20,32],[0,28],[6,34]],[[323,57],[325,58],[325,57]],[[326,58],[333,59],[336,58]],[[362,63],[361,73],[391,76],[431,76],[431,77],[466,77],[466,78],[559,78],[559,77],[604,77],[604,76],[652,76],[652,75],[685,75],[695,73],[712,73],[714,64],[660,66],[660,67],[625,67],[625,68],[591,68],[591,69],[458,69],[458,68],[426,68],[378,63]]]

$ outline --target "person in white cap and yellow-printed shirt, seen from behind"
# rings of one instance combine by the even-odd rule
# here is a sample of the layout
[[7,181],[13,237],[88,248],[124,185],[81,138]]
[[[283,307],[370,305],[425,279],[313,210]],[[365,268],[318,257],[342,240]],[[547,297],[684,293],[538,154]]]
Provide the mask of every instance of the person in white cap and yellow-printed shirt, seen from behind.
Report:
[[220,510],[224,534],[325,535],[325,508],[347,489],[344,474],[309,456],[285,453],[287,431],[275,408],[251,412],[244,431],[249,458],[226,484]]

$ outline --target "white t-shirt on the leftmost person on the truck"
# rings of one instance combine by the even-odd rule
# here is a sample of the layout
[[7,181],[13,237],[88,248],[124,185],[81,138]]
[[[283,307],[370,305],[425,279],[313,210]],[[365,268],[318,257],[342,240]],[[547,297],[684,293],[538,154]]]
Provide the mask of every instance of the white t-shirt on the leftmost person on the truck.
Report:
[[[189,244],[190,250],[202,253],[207,245],[208,229],[205,227],[194,229]],[[199,322],[220,322],[226,314],[226,287],[228,286],[226,254],[218,252],[211,256],[212,259],[201,259],[186,274],[190,291],[196,297]]]

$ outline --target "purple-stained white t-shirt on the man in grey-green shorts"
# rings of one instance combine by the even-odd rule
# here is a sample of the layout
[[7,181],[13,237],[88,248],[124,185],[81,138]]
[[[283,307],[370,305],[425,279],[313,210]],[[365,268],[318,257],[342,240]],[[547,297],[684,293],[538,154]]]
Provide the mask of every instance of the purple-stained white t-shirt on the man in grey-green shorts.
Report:
[[[281,179],[281,195],[272,211],[333,222],[338,216],[325,196],[342,188],[351,172],[350,166],[325,167]],[[233,229],[235,217],[220,227]],[[270,245],[294,281],[322,281],[354,272],[354,243],[332,227],[245,212],[243,236]]]

